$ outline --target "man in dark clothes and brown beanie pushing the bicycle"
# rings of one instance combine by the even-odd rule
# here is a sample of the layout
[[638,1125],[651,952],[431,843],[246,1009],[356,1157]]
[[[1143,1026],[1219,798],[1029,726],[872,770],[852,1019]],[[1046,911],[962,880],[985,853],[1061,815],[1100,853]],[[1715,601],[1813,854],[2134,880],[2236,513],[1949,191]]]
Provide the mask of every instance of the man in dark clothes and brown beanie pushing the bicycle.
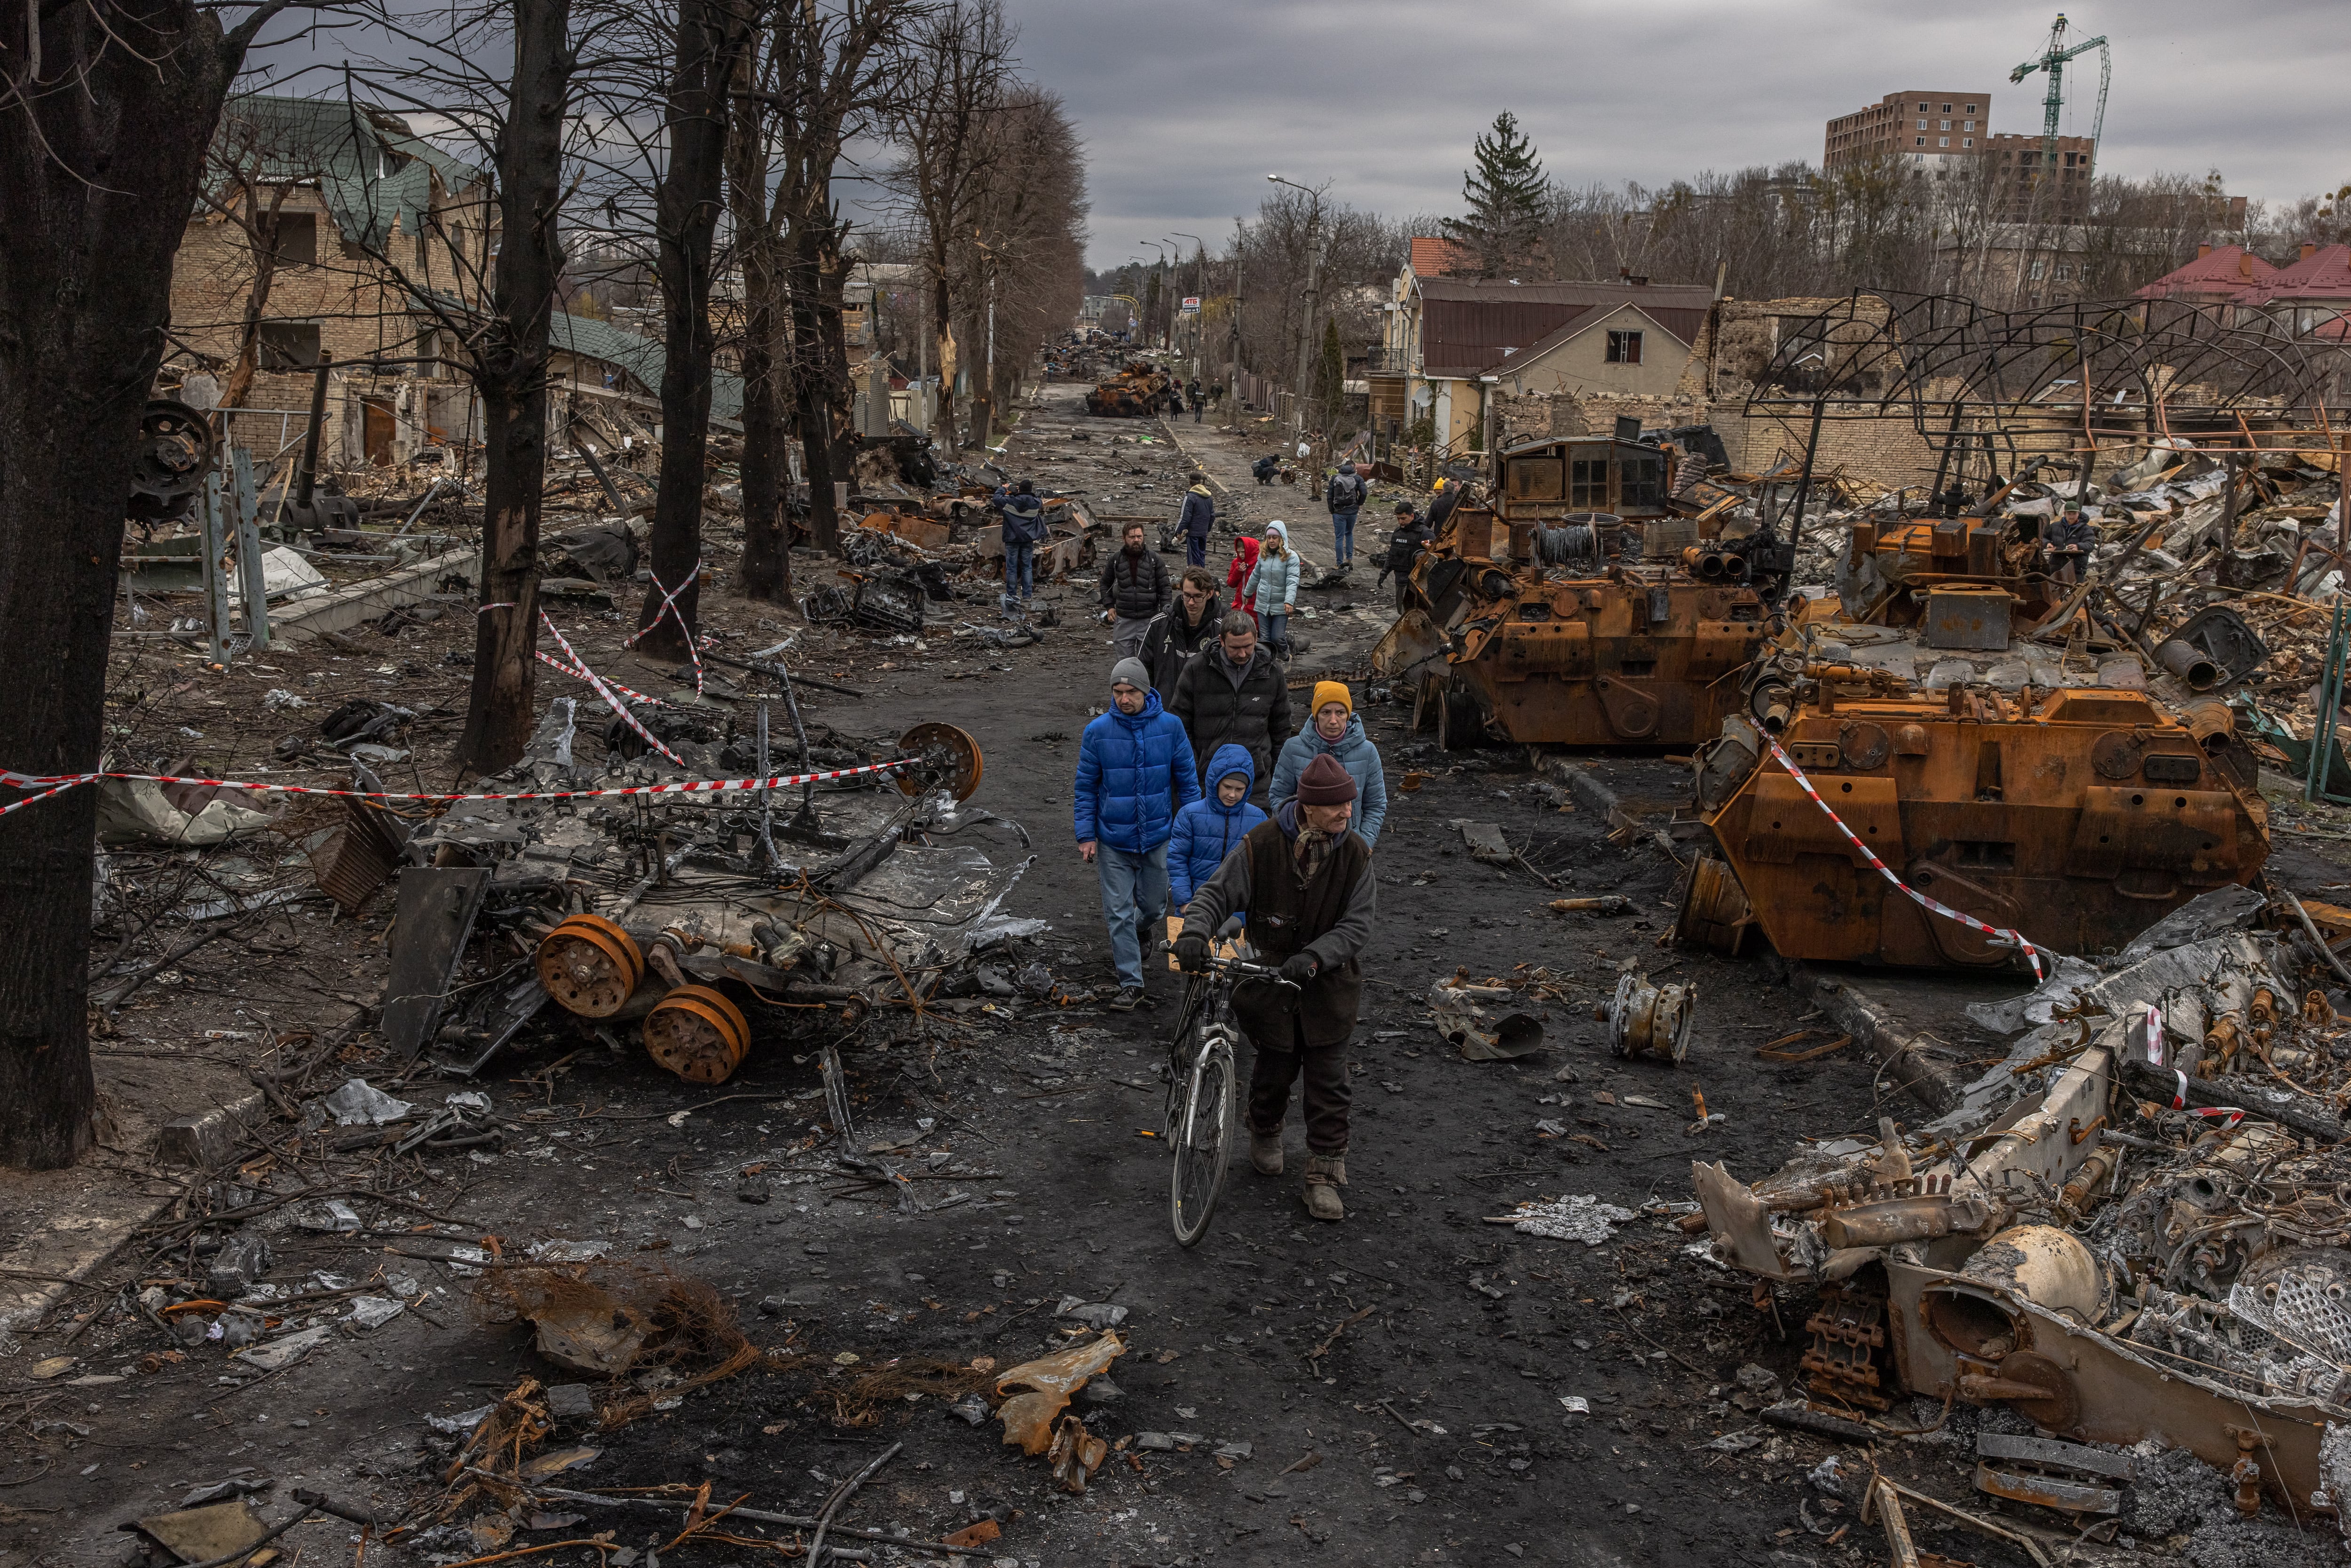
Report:
[[1317,1220],[1345,1220],[1352,1093],[1347,1041],[1364,1001],[1364,947],[1375,891],[1371,846],[1347,820],[1354,780],[1335,757],[1317,757],[1298,797],[1258,823],[1241,846],[1192,893],[1176,964],[1199,973],[1208,940],[1234,910],[1248,912],[1248,945],[1300,990],[1241,985],[1232,1011],[1255,1046],[1248,1072],[1248,1164],[1281,1175],[1281,1124],[1291,1084],[1305,1079],[1305,1204]]

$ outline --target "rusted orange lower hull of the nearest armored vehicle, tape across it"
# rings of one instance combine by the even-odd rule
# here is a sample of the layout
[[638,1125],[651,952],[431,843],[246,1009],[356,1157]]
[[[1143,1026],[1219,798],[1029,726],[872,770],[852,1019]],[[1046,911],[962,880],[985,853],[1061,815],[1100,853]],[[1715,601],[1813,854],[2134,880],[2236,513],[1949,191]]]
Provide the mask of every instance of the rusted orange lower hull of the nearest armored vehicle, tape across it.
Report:
[[[2045,952],[2104,952],[2269,858],[2250,757],[2208,755],[2146,696],[2052,691],[2029,717],[1968,696],[1961,712],[1834,701],[1777,736],[1820,799],[1928,898]],[[1704,820],[1784,957],[1921,969],[2017,957],[1886,882],[1768,750]]]

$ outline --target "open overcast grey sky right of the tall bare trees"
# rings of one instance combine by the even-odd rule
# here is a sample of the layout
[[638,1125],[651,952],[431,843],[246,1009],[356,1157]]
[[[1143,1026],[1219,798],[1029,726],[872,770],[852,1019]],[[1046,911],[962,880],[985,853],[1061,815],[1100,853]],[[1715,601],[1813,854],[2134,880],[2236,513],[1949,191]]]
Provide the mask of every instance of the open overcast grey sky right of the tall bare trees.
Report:
[[[1211,252],[1267,172],[1331,181],[1389,216],[1460,212],[1469,139],[1509,108],[1568,183],[1660,186],[1700,169],[1820,160],[1822,122],[1911,87],[1989,92],[1991,129],[2038,134],[2055,5],[2017,0],[1006,0],[1027,73],[1086,139],[1089,261]],[[2219,169],[2231,195],[2351,181],[2342,0],[2104,0],[2114,89],[2099,169]],[[2088,134],[2097,52],[2067,66]]]

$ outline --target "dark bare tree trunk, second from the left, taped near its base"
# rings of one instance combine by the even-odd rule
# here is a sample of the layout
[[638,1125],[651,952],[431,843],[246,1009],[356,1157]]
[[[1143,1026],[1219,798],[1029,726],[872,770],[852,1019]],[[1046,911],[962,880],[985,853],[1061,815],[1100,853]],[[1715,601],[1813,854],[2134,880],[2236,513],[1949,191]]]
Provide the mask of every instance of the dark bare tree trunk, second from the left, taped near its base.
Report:
[[477,360],[487,475],[482,607],[458,766],[522,759],[536,717],[538,515],[548,477],[548,327],[562,277],[555,216],[571,96],[571,0],[517,0],[515,85],[498,132],[498,273]]

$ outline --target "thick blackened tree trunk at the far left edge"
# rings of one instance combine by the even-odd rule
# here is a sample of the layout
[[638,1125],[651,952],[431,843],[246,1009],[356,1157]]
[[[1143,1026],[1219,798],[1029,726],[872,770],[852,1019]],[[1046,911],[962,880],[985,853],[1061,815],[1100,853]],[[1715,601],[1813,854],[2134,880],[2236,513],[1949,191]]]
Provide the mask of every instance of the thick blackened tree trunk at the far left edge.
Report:
[[[0,705],[0,766],[99,766],[122,508],[172,254],[256,26],[223,35],[188,0],[0,19],[14,85],[0,110],[0,625],[40,670]],[[0,788],[0,804],[24,797]],[[0,823],[0,1164],[68,1166],[94,1138],[96,816],[85,785]]]

